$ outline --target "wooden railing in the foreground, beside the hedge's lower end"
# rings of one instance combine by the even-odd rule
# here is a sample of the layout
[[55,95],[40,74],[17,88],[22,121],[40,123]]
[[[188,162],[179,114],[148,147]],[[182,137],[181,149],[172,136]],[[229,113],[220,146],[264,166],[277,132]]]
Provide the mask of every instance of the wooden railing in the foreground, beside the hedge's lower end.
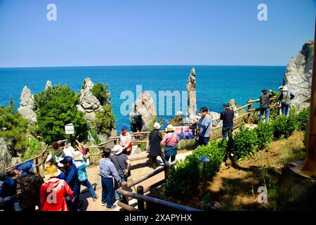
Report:
[[[133,181],[131,183],[123,182],[121,184],[121,188],[117,189],[117,193],[123,195],[122,200],[117,204],[119,207],[121,207],[124,210],[127,211],[143,211],[145,210],[145,204],[144,203],[150,203],[154,205],[160,205],[165,208],[171,209],[171,210],[178,210],[178,211],[201,211],[192,207],[187,207],[185,205],[178,205],[176,203],[171,203],[166,200],[161,200],[159,198],[153,198],[147,195],[144,195],[148,191],[150,191],[152,188],[161,186],[164,184],[165,180],[168,177],[169,169],[171,166],[175,166],[177,162],[172,162],[170,165],[164,165],[163,167],[159,167],[158,169],[155,169],[150,174],[147,174],[140,179]],[[128,191],[129,188],[136,186],[137,184],[140,184],[141,182],[150,179],[152,176],[155,176],[161,172],[164,172],[164,179],[157,181],[155,184],[152,184],[151,186],[147,186],[147,188],[143,188],[143,186],[137,187],[137,193],[133,193],[131,191]],[[129,205],[130,198],[137,199],[137,209],[135,207],[132,207]],[[147,205],[147,204],[146,204]]]

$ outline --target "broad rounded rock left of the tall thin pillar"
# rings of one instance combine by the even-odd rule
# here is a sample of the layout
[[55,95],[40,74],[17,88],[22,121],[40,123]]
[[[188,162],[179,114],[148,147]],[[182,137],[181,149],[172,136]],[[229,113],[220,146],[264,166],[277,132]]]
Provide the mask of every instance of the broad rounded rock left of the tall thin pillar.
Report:
[[137,122],[142,121],[141,131],[149,131],[150,120],[152,117],[157,116],[156,106],[154,99],[147,91],[143,91],[132,105],[132,111],[129,114],[131,121],[131,129],[137,127]]

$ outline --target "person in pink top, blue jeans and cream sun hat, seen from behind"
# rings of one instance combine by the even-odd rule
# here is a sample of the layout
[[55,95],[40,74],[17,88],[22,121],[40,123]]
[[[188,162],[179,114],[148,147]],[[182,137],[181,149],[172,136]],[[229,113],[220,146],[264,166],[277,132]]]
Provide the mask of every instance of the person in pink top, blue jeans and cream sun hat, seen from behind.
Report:
[[173,127],[172,124],[169,124],[166,127],[166,135],[164,136],[164,139],[162,139],[162,141],[160,142],[161,146],[165,146],[164,157],[166,159],[166,162],[169,162],[169,158],[171,158],[171,162],[176,160],[179,138],[174,131],[175,127]]

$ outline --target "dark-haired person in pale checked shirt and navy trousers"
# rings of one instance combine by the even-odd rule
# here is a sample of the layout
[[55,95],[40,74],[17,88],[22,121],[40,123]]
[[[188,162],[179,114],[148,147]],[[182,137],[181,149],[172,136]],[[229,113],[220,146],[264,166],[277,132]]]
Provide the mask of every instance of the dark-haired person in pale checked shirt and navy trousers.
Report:
[[113,162],[110,159],[111,149],[105,148],[103,150],[103,156],[100,160],[100,175],[101,175],[101,183],[102,183],[102,205],[107,204],[107,210],[112,210],[117,207],[117,205],[113,205],[114,203],[114,187],[113,187],[113,177],[121,185],[121,178],[117,173],[117,169],[115,168]]

